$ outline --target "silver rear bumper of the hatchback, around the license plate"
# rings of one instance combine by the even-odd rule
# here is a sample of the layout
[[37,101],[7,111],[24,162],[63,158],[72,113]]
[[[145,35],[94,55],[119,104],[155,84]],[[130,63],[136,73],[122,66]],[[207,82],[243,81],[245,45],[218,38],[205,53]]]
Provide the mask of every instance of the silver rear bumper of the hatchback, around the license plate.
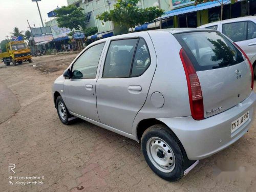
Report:
[[[199,160],[209,157],[241,138],[254,118],[256,94],[250,96],[233,108],[204,120],[189,117],[159,118],[172,129],[181,141],[188,159]],[[231,122],[249,111],[249,119],[231,134]]]

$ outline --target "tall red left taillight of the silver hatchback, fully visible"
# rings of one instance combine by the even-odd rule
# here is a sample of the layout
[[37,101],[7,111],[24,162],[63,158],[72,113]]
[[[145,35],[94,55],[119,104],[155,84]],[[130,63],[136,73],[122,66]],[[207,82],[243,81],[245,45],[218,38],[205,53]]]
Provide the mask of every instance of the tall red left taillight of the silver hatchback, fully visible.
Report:
[[186,52],[180,50],[180,58],[185,70],[191,115],[196,120],[204,119],[203,95],[197,73]]

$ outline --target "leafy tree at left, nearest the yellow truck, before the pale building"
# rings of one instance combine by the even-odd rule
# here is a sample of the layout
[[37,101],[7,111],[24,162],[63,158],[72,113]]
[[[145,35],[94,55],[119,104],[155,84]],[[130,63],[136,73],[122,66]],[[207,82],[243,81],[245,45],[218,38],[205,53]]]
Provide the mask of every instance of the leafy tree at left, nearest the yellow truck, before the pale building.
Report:
[[57,22],[59,27],[69,28],[71,30],[79,30],[86,28],[86,19],[82,12],[82,8],[77,8],[74,5],[63,6],[60,9],[54,10],[57,13]]

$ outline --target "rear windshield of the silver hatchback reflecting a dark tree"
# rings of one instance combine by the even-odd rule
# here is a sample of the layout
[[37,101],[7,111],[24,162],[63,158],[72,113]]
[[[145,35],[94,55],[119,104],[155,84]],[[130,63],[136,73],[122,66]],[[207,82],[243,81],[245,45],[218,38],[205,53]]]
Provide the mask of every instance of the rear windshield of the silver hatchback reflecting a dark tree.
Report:
[[196,71],[233,66],[245,60],[242,53],[219,32],[188,32],[174,36]]

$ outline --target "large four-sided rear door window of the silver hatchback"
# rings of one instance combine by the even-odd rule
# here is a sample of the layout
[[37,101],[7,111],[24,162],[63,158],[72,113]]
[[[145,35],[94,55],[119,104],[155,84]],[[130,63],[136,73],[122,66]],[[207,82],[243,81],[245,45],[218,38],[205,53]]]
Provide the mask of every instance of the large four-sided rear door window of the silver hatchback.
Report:
[[106,55],[103,78],[130,77],[137,41],[138,38],[111,41]]

